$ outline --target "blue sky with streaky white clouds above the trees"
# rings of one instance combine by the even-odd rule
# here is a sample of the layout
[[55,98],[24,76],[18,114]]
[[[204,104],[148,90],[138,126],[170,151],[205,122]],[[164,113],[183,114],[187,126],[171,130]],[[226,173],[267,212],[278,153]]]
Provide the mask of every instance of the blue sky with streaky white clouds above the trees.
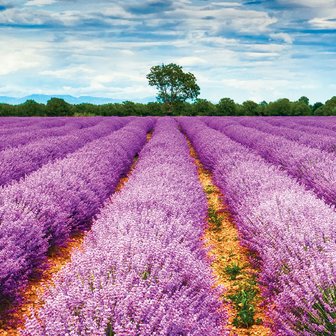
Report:
[[200,98],[336,95],[336,0],[0,0],[0,95],[155,97],[177,63]]

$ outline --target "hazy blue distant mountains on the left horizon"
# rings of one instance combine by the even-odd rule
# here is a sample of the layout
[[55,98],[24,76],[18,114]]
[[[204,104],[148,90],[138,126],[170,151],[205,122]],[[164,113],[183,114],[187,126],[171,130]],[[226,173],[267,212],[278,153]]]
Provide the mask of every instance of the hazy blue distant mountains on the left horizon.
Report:
[[30,96],[25,96],[22,98],[0,96],[0,103],[17,105],[17,104],[24,103],[26,100],[32,99],[38,103],[46,104],[47,101],[53,97],[64,99],[69,104],[90,103],[90,104],[100,105],[100,104],[108,104],[108,103],[121,103],[125,100],[131,100],[135,103],[148,103],[150,101],[155,101],[154,97],[147,97],[147,98],[142,98],[142,99],[112,99],[112,98],[91,97],[91,96],[74,97],[70,95],[32,94]]

